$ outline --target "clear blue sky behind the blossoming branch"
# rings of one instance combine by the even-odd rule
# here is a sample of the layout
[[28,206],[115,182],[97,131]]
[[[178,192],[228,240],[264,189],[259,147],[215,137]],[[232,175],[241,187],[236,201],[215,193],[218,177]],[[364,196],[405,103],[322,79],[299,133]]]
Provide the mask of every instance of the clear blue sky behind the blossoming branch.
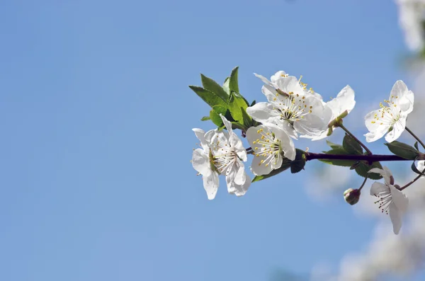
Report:
[[250,101],[280,69],[380,101],[404,78],[392,1],[2,1],[0,35],[0,280],[308,276],[370,239],[374,219],[307,197],[314,164],[208,201],[188,84],[239,65]]

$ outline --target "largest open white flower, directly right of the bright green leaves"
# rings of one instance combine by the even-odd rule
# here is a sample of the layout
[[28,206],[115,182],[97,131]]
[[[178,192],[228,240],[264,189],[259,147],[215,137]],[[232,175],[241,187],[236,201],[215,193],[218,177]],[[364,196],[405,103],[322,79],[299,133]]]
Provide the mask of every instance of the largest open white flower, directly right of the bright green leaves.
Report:
[[301,137],[314,138],[327,129],[329,120],[324,120],[322,97],[308,91],[307,84],[295,76],[287,76],[284,71],[273,75],[272,81],[255,75],[265,83],[261,91],[268,103],[256,103],[246,109],[254,120],[271,124],[276,124],[276,120],[288,122],[290,130],[287,132],[294,138],[297,133]]

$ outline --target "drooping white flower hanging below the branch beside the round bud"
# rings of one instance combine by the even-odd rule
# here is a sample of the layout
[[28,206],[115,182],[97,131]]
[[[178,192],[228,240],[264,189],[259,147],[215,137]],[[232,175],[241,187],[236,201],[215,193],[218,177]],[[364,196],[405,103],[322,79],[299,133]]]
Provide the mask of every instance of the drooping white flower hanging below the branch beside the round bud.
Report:
[[373,183],[370,188],[370,195],[379,197],[375,204],[379,204],[380,210],[390,214],[392,229],[394,234],[399,234],[402,228],[402,215],[407,210],[409,199],[400,190],[394,186],[394,178],[390,169],[384,167],[370,169],[368,173],[379,173],[385,180],[385,184]]

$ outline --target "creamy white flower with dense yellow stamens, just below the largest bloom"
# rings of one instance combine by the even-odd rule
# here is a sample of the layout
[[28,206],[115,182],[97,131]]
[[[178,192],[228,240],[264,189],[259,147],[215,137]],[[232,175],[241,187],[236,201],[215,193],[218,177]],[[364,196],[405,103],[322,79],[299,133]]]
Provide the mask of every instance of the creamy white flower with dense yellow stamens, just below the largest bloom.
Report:
[[254,150],[251,171],[256,176],[267,175],[272,170],[280,168],[283,156],[290,160],[295,159],[296,152],[292,139],[276,125],[250,127],[246,131],[246,139]]

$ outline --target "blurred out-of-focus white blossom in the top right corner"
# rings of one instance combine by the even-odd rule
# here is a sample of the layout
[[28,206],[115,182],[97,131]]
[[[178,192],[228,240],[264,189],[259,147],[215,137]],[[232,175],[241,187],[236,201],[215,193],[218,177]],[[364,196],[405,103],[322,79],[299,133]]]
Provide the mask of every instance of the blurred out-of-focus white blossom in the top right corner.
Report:
[[420,51],[424,47],[424,0],[397,0],[399,23],[410,50]]

